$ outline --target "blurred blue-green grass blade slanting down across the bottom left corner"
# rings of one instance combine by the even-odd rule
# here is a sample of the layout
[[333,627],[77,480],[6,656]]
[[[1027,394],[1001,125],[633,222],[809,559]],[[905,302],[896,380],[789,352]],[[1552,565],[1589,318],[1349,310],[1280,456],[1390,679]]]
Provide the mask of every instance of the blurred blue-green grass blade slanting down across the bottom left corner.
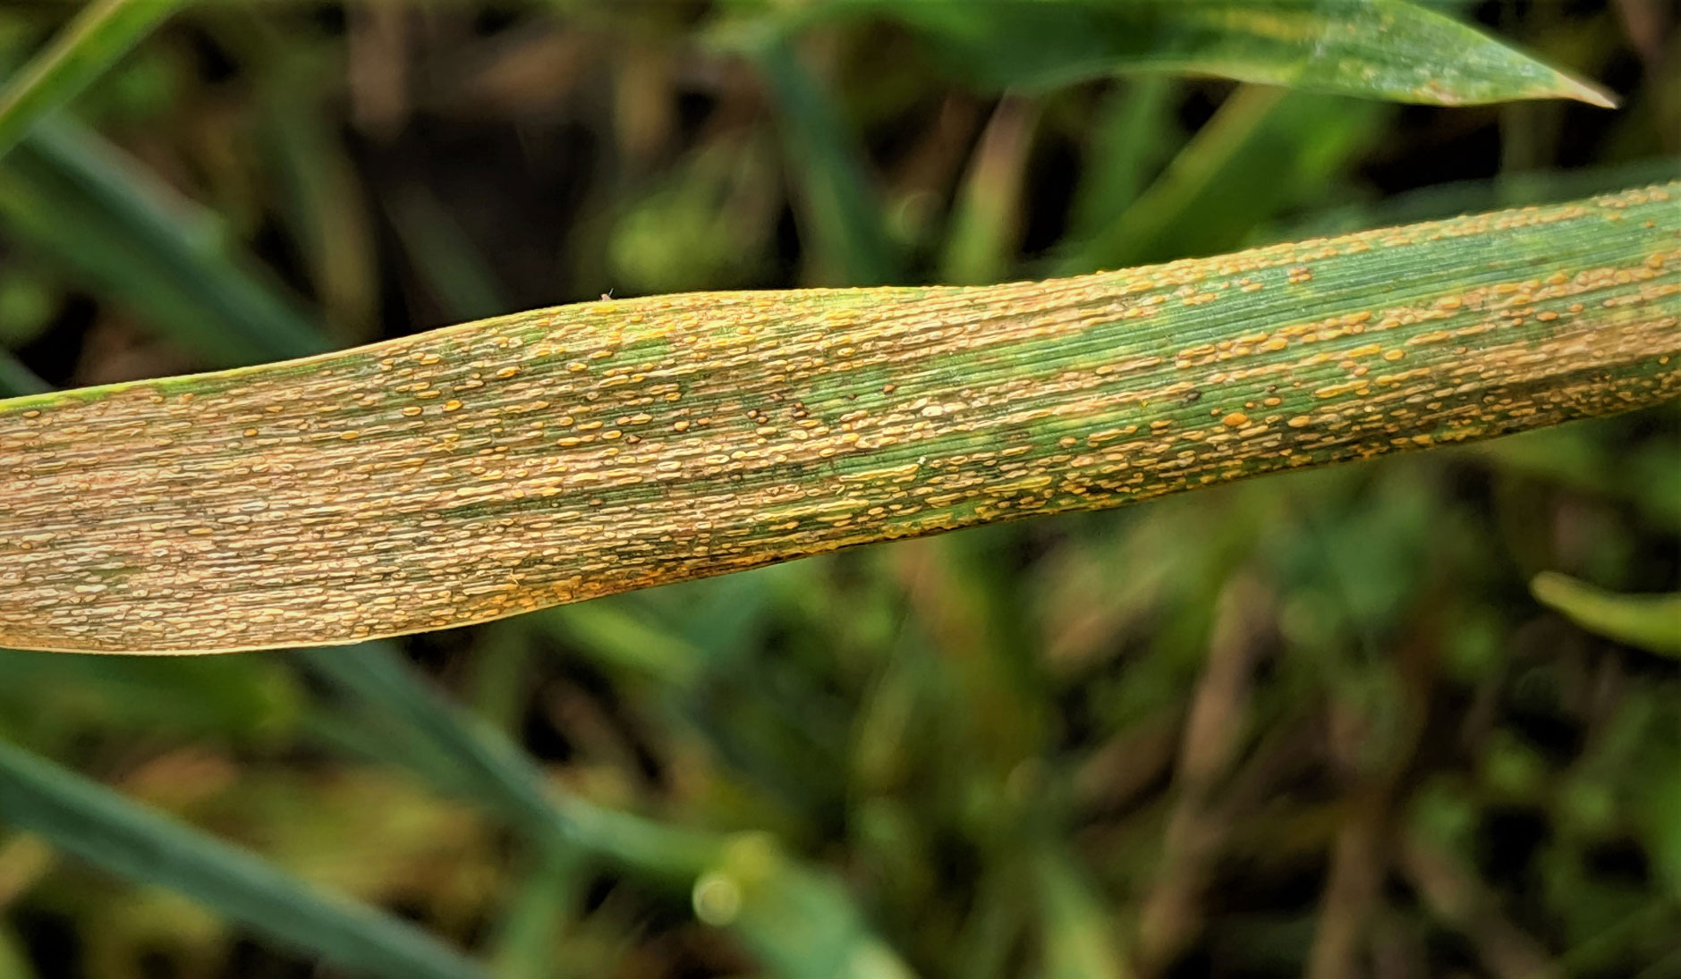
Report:
[[0,741],[0,819],[94,866],[187,893],[269,939],[390,979],[481,971],[397,919],[329,898],[235,846]]

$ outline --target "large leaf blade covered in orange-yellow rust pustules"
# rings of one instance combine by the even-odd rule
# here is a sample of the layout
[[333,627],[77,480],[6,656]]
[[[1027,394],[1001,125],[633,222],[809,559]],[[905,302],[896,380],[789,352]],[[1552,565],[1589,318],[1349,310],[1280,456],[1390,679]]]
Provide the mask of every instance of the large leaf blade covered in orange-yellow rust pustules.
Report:
[[346,643],[1651,405],[1681,391],[1678,196],[0,401],[0,645]]

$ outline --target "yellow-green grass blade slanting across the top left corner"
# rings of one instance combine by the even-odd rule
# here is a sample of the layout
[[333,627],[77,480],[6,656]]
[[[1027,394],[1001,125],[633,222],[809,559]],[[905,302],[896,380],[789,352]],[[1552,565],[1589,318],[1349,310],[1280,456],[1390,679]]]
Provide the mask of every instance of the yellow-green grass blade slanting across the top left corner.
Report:
[[30,126],[92,84],[116,59],[151,34],[182,0],[96,0],[0,89],[0,156]]

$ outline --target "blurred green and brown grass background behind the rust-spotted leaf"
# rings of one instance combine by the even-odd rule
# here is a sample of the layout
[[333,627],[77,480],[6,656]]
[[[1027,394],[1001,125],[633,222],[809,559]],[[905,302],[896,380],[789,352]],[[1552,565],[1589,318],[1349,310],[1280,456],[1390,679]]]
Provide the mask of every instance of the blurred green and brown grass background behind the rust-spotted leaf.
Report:
[[[918,2],[192,7],[0,158],[0,388],[1681,175],[1668,0],[1434,5],[1619,111],[1049,84],[1010,52],[1084,39]],[[0,8],[0,76],[76,10]],[[0,653],[0,791],[67,825],[81,772],[498,976],[1681,976],[1681,616],[1626,598],[1678,584],[1668,405],[400,643]],[[103,804],[0,818],[0,977],[472,974],[321,966],[355,912]]]

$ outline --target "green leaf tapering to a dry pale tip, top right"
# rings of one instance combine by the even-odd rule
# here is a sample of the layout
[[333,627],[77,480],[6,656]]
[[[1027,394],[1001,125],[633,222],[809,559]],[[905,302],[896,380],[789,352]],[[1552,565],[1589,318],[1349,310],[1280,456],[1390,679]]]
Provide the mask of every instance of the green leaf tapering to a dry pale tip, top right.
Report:
[[1115,72],[1207,74],[1446,106],[1610,97],[1407,0],[827,0],[800,22],[869,15],[921,32],[960,77],[1054,89]]

